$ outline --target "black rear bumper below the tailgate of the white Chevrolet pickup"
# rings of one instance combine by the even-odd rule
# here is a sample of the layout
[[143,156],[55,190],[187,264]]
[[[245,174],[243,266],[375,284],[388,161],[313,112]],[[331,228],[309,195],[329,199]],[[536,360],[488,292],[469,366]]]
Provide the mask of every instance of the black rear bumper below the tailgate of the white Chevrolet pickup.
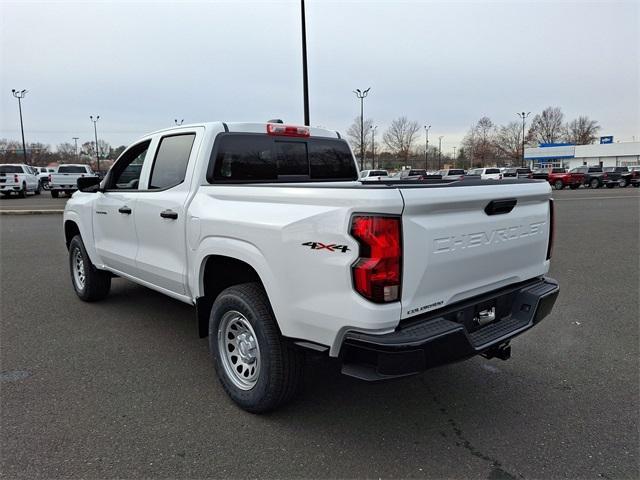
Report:
[[[372,335],[348,332],[340,357],[342,373],[363,380],[381,380],[419,373],[474,355],[505,355],[509,340],[530,329],[553,308],[560,288],[539,278],[451,305],[442,311],[412,317],[394,332]],[[495,305],[501,318],[478,327],[479,308]]]

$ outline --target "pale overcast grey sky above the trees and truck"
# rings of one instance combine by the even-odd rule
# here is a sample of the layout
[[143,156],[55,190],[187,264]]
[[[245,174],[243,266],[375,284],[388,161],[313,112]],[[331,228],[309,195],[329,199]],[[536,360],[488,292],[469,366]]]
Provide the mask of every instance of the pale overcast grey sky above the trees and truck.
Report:
[[[559,106],[640,140],[640,2],[307,0],[311,125],[345,132],[353,90],[383,132],[443,152],[482,116]],[[303,123],[300,2],[0,0],[0,138],[112,145],[174,119]],[[424,131],[421,130],[424,142]],[[433,143],[432,143],[433,144]]]

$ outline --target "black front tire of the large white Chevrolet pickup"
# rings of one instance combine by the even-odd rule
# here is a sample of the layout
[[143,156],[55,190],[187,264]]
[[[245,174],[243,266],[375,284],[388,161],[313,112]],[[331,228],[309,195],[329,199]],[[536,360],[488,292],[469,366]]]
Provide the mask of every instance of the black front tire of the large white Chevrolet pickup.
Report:
[[[84,282],[80,282],[74,271],[76,269],[76,255],[82,261]],[[98,270],[91,260],[82,243],[80,235],[76,235],[69,243],[69,273],[71,274],[71,284],[78,297],[85,302],[95,302],[102,300],[109,294],[111,289],[111,274],[104,270]]]

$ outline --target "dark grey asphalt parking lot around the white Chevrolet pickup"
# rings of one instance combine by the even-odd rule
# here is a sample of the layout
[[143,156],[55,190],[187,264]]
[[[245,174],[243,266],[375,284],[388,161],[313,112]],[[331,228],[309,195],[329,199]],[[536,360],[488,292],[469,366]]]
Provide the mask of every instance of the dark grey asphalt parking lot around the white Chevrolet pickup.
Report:
[[639,194],[554,192],[560,297],[511,360],[370,384],[310,358],[263,416],[226,397],[190,307],[121,279],[83,303],[61,216],[3,215],[0,476],[638,478]]

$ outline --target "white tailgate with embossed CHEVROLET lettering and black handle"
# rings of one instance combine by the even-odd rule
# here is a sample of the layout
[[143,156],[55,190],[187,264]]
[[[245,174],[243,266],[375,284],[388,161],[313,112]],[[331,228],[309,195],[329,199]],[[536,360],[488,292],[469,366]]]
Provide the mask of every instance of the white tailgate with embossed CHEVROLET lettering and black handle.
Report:
[[402,318],[547,272],[547,182],[400,192]]

